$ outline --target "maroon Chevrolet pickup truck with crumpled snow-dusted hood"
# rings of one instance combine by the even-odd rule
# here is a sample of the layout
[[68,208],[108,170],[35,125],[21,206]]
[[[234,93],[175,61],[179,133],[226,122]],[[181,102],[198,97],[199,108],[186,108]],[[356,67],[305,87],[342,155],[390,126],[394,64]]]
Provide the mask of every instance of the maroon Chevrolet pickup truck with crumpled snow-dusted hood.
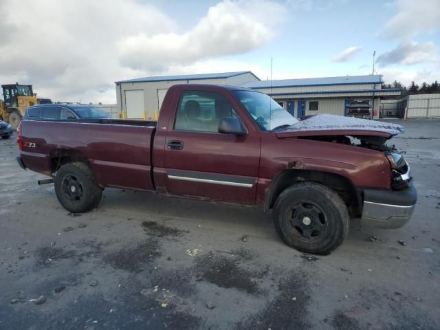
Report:
[[326,254],[351,219],[384,228],[410,219],[410,166],[386,144],[403,132],[338,115],[298,121],[251,89],[174,85],[157,122],[25,116],[18,162],[52,177],[70,212],[96,208],[107,187],[239,203],[273,209],[285,243]]

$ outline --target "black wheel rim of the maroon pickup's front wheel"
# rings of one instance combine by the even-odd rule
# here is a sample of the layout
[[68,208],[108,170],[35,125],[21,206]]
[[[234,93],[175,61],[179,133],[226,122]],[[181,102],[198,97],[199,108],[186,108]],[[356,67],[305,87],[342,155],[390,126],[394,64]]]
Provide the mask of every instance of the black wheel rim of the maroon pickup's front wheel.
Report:
[[301,241],[314,242],[322,239],[329,228],[325,212],[313,201],[297,201],[286,213],[289,232]]

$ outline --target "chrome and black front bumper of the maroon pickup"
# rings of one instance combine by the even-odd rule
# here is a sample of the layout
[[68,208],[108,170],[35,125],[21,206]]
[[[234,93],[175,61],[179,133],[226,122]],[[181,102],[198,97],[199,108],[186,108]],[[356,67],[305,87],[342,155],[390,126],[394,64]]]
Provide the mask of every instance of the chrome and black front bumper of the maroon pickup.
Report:
[[417,203],[412,183],[402,190],[364,190],[362,221],[380,228],[400,228],[409,221]]

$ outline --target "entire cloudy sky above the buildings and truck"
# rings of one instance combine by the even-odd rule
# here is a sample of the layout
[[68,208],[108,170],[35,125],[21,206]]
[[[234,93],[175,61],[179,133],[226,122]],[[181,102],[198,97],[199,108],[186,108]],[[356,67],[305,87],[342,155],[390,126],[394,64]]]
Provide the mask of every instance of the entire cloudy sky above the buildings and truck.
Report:
[[440,80],[439,0],[0,1],[0,83],[115,102],[115,80],[251,70],[261,79]]

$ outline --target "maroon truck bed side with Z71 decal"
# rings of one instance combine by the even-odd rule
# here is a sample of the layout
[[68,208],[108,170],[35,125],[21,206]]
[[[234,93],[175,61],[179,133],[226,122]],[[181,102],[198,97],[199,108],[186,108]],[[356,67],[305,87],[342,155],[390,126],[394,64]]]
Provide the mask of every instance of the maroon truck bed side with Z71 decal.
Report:
[[155,126],[136,120],[23,120],[21,158],[27,168],[45,175],[63,157],[87,159],[103,187],[152,190]]

